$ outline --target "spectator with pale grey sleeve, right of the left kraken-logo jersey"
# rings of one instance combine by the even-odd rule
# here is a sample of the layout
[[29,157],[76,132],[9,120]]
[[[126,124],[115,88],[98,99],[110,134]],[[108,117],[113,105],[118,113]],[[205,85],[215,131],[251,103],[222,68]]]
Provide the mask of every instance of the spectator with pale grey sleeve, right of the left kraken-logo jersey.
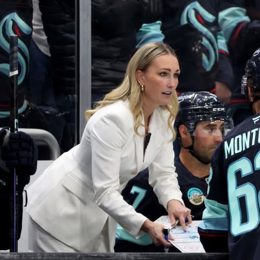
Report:
[[[59,113],[53,93],[52,66],[49,45],[43,29],[42,13],[39,0],[33,0],[33,33],[30,46],[30,93],[31,106],[41,115],[33,113],[35,124],[30,128],[47,130],[54,135],[60,144],[63,115]],[[38,145],[39,159],[46,160],[49,150],[44,145]],[[61,151],[63,149],[61,148]]]

